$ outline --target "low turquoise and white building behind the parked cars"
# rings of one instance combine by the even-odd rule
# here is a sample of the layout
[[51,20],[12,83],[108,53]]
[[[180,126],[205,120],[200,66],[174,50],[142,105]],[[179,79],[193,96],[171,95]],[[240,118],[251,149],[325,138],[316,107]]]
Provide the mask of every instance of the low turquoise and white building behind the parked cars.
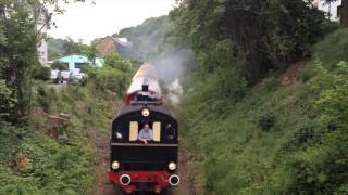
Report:
[[[91,64],[86,55],[83,54],[70,54],[58,58],[61,63],[65,64],[70,70],[72,69],[80,69],[86,64]],[[96,57],[95,61],[98,67],[102,67],[104,60],[102,57]]]

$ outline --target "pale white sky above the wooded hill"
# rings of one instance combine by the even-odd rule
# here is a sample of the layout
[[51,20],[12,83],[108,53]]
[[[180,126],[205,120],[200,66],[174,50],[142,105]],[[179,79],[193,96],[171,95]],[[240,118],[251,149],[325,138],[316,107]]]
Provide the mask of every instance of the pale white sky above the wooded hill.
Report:
[[119,32],[120,29],[141,24],[146,18],[166,15],[175,0],[87,0],[85,3],[70,3],[65,13],[54,15],[55,27],[48,35],[54,38],[71,37],[88,43]]

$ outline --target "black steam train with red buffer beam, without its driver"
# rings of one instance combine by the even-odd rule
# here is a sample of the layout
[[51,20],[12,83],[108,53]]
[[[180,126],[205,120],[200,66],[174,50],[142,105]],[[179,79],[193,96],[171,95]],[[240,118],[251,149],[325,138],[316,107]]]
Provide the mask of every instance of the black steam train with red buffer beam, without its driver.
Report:
[[[140,142],[145,123],[152,140]],[[109,181],[127,193],[162,191],[179,185],[177,121],[162,104],[156,69],[144,64],[133,78],[125,105],[112,122]]]

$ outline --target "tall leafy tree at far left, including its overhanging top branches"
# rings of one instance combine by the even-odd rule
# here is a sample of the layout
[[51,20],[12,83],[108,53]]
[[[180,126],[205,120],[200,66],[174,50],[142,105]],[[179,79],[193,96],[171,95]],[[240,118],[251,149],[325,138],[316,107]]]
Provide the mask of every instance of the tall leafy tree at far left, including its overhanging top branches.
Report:
[[52,14],[63,12],[55,6],[52,13],[48,13],[49,5],[60,2],[67,1],[0,0],[0,79],[11,91],[11,100],[16,100],[7,110],[11,122],[25,121],[29,113],[30,73],[38,63],[37,43],[45,37],[37,24],[44,20],[44,26],[49,25]]

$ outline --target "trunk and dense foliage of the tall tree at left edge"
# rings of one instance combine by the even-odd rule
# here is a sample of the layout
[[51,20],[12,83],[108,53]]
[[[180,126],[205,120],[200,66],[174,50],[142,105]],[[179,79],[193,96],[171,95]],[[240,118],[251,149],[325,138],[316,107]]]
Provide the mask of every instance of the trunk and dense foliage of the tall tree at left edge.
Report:
[[16,99],[10,120],[18,121],[28,113],[28,77],[30,68],[37,64],[35,21],[29,17],[35,9],[33,1],[0,1],[0,79]]

